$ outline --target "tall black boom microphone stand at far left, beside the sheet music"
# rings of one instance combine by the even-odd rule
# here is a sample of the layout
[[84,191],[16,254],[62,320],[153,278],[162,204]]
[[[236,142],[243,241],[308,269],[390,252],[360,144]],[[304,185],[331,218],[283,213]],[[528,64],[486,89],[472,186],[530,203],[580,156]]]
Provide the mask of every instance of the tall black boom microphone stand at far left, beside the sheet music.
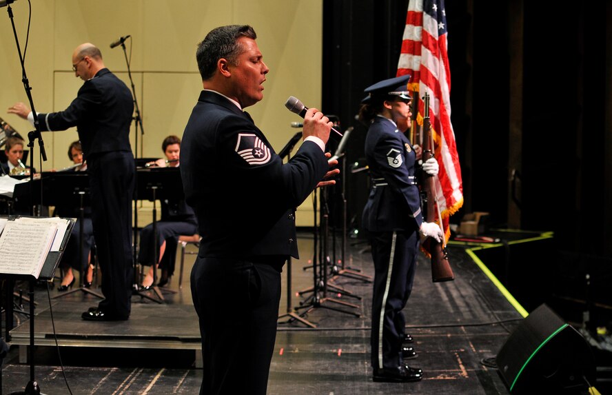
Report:
[[[10,19],[10,24],[12,26],[13,34],[15,37],[15,44],[17,45],[17,52],[19,53],[19,61],[21,62],[21,81],[23,82],[23,88],[26,90],[26,95],[28,96],[28,101],[30,101],[30,108],[32,109],[32,115],[34,115],[34,128],[35,130],[28,133],[28,147],[30,147],[30,196],[32,196],[32,184],[34,183],[34,140],[39,139],[39,146],[41,148],[41,156],[43,161],[47,161],[47,153],[45,152],[45,144],[43,143],[43,138],[41,136],[41,129],[38,123],[37,112],[34,110],[34,101],[32,100],[32,88],[30,88],[30,83],[28,81],[28,76],[26,74],[26,65],[23,60],[23,56],[21,55],[21,47],[19,46],[19,37],[17,37],[17,29],[15,28],[15,23],[13,19],[12,8],[10,7],[10,3],[14,0],[7,0],[8,7],[8,17]],[[41,188],[42,194],[43,188]],[[30,197],[31,199],[31,197]],[[32,200],[30,200],[32,203]],[[32,216],[34,216],[35,212],[34,205],[32,205]],[[40,395],[41,388],[34,378],[34,280],[30,279],[30,381],[26,384],[26,388],[24,391],[13,392],[11,395]],[[1,390],[1,389],[0,389]]]

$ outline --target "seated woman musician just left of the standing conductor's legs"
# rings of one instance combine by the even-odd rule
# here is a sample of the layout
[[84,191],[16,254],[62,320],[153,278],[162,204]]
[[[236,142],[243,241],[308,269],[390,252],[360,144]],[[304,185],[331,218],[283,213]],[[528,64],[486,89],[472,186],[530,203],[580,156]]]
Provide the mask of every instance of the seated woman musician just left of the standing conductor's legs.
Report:
[[[84,172],[87,170],[87,163],[83,163],[83,150],[80,141],[73,141],[70,144],[70,147],[68,147],[68,157],[74,163],[74,166],[68,169],[69,171]],[[55,216],[77,219],[74,227],[72,227],[68,245],[66,245],[59,263],[59,267],[62,270],[62,278],[61,285],[59,285],[57,290],[60,292],[66,291],[68,288],[72,287],[75,281],[72,269],[78,271],[81,265],[83,265],[81,269],[83,270],[82,273],[85,273],[85,280],[83,281],[83,278],[79,278],[79,280],[83,283],[83,287],[89,288],[92,286],[94,269],[94,266],[90,264],[91,249],[94,245],[94,229],[91,218],[92,209],[90,205],[83,206],[83,239],[81,239],[80,208],[80,199],[78,199],[77,194],[75,194],[74,200],[55,206]],[[83,255],[79,256],[81,241],[83,242]]]

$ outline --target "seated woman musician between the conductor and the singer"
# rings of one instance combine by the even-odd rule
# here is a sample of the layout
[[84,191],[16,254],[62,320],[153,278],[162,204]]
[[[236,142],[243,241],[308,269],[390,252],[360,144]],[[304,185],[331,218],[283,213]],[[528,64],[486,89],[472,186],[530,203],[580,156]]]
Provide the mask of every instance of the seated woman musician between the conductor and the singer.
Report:
[[[147,163],[147,167],[176,168],[179,166],[179,154],[181,152],[181,139],[178,136],[167,136],[163,139],[161,149],[165,159]],[[176,176],[179,176],[177,174]],[[176,261],[176,247],[179,244],[179,236],[184,234],[196,234],[198,224],[194,210],[184,200],[161,201],[161,219],[156,223],[157,228],[157,252],[158,265],[161,276],[157,285],[163,287],[168,278],[174,273]],[[154,234],[153,224],[143,227],[140,234],[140,247],[138,261],[141,265],[151,266],[151,269],[142,281],[140,290],[148,290],[153,285],[153,261],[154,261]]]

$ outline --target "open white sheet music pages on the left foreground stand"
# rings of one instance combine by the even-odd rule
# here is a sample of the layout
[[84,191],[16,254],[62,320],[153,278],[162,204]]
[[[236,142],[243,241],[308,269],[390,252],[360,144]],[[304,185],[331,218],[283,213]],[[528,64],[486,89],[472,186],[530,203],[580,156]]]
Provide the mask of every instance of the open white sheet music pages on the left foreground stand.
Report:
[[38,278],[57,233],[48,221],[7,221],[0,235],[0,273]]

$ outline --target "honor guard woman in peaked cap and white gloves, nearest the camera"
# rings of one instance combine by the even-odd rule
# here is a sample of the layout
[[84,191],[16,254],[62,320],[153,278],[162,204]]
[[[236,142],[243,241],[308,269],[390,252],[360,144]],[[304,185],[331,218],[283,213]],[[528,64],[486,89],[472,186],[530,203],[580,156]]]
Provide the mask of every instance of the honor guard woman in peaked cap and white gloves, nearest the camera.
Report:
[[[416,352],[405,343],[406,306],[416,269],[419,234],[440,241],[442,231],[423,221],[416,185],[416,154],[398,124],[410,127],[410,76],[385,79],[365,89],[359,118],[369,125],[365,156],[371,191],[363,210],[374,260],[372,292],[371,363],[374,381],[419,381],[423,372],[405,363]],[[428,174],[438,174],[438,163],[424,163]]]

